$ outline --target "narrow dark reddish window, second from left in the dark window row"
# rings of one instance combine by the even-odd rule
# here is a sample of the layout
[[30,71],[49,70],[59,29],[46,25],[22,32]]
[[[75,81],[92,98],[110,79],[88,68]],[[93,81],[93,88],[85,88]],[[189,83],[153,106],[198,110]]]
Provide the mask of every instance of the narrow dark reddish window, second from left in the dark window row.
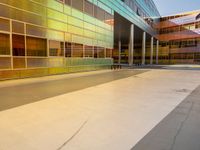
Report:
[[25,56],[25,40],[22,35],[12,35],[13,56]]

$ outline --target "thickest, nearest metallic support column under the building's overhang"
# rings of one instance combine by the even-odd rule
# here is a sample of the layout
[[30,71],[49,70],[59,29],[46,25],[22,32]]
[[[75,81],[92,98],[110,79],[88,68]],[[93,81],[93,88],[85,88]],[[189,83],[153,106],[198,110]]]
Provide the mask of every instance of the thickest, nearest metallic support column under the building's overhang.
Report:
[[129,54],[128,54],[129,66],[133,65],[133,54],[134,54],[134,24],[131,24],[130,37],[129,37]]

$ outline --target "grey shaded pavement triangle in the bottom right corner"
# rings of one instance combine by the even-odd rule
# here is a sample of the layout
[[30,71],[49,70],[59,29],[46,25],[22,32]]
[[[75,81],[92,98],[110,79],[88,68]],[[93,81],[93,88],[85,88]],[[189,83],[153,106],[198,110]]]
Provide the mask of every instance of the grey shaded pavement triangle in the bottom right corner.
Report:
[[132,150],[199,149],[200,86],[132,148]]

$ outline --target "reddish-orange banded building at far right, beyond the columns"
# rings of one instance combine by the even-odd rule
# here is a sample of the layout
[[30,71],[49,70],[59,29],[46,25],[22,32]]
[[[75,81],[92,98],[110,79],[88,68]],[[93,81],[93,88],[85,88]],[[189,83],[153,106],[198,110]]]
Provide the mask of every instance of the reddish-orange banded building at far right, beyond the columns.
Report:
[[160,18],[160,64],[200,63],[200,11]]

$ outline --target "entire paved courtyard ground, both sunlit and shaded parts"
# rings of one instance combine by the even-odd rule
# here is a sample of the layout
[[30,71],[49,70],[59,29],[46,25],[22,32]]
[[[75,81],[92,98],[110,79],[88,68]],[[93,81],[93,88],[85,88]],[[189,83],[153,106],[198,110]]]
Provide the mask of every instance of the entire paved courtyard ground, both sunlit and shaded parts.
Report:
[[0,149],[196,150],[199,86],[191,65],[1,81]]

